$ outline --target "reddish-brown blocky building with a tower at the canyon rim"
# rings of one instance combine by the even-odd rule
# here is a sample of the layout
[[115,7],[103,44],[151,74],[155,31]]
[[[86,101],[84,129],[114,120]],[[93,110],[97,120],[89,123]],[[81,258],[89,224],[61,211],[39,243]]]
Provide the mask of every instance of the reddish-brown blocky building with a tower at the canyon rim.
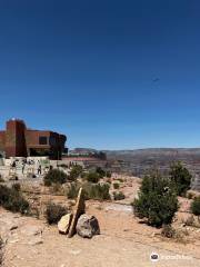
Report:
[[60,159],[67,137],[53,131],[32,130],[19,119],[7,121],[0,131],[0,150],[6,157],[49,156]]

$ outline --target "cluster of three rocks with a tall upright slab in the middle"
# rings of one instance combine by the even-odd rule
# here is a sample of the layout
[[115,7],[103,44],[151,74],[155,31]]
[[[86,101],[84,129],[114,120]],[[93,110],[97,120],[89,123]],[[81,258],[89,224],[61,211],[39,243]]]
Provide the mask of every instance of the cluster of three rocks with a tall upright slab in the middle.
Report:
[[80,188],[73,214],[62,216],[58,222],[60,234],[68,235],[71,238],[76,233],[83,238],[92,238],[100,235],[99,222],[94,216],[84,214],[84,196]]

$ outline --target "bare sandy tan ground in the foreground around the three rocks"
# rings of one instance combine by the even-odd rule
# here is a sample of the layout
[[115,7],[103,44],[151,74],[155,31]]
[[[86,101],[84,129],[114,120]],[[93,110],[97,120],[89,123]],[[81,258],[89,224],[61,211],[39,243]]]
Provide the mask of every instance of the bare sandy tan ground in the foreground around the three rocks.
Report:
[[[148,267],[200,266],[200,229],[184,227],[186,240],[172,240],[160,236],[160,229],[134,218],[130,199],[137,194],[139,181],[127,182],[121,188],[126,200],[118,202],[87,201],[87,214],[94,215],[101,234],[92,239],[58,233],[57,226],[44,220],[21,217],[0,209],[0,234],[7,240],[6,267]],[[66,198],[62,197],[66,201]],[[181,208],[174,226],[188,216],[190,200],[180,199]],[[183,227],[182,227],[183,228]],[[159,260],[152,263],[151,254]]]

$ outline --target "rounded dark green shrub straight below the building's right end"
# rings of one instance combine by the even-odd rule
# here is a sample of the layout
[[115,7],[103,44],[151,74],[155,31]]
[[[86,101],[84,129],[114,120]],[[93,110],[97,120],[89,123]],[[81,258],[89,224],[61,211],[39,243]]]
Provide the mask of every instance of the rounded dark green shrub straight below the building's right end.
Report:
[[52,184],[64,184],[67,181],[67,175],[59,169],[49,170],[44,176],[43,182],[44,186],[51,186]]

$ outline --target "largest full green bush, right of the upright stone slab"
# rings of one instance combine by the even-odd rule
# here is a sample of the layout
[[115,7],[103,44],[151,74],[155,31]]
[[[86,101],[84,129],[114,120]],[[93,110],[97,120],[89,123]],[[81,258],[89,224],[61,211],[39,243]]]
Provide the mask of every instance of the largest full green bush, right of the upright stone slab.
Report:
[[178,198],[173,185],[158,172],[146,176],[134,199],[134,215],[148,219],[151,226],[169,225],[178,210]]

